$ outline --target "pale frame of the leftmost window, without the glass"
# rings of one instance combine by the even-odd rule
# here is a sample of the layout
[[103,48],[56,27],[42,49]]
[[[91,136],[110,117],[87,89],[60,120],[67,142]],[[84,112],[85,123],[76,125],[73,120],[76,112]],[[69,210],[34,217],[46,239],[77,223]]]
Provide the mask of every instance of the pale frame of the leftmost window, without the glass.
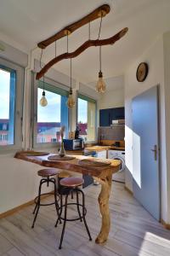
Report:
[[0,145],[0,154],[6,154],[10,151],[20,150],[22,148],[22,119],[23,119],[23,99],[24,99],[24,67],[7,61],[0,57],[0,67],[4,70],[15,71],[15,96],[14,96],[14,144]]

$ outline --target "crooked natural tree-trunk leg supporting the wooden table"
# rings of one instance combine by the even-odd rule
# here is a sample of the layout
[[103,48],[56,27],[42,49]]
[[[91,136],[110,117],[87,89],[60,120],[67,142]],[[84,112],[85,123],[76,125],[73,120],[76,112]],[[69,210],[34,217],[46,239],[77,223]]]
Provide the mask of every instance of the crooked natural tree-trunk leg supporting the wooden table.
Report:
[[102,224],[96,243],[104,243],[107,241],[111,229],[111,216],[109,210],[109,198],[111,194],[112,172],[105,178],[94,177],[101,184],[101,191],[99,193],[99,210],[102,216]]

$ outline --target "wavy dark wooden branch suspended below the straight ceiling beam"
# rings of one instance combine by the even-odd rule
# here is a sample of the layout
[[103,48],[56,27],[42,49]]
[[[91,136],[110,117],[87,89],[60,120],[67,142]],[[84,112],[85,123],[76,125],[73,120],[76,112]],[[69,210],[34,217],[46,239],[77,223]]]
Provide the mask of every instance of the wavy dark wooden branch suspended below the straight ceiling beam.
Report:
[[44,67],[42,67],[41,71],[37,73],[36,79],[41,79],[42,76],[48,72],[48,69],[54,64],[56,64],[59,61],[65,60],[65,59],[71,59],[77,57],[77,55],[80,55],[85,49],[88,49],[89,47],[92,46],[102,46],[102,45],[107,45],[107,44],[115,44],[116,41],[118,41],[120,38],[122,38],[128,31],[128,28],[125,27],[122,29],[122,31],[116,33],[111,38],[106,38],[106,39],[97,39],[97,40],[88,40],[84,44],[82,44],[79,48],[77,48],[75,51],[71,53],[64,53],[62,55],[58,55],[51,61],[49,61]]

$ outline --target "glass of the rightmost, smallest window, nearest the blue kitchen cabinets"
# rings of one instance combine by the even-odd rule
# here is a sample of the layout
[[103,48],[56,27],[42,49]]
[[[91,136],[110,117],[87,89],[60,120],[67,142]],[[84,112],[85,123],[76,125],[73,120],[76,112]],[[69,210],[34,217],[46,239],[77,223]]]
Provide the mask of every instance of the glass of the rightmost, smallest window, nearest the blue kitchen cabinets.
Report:
[[78,95],[77,125],[85,141],[96,139],[96,101],[88,96]]

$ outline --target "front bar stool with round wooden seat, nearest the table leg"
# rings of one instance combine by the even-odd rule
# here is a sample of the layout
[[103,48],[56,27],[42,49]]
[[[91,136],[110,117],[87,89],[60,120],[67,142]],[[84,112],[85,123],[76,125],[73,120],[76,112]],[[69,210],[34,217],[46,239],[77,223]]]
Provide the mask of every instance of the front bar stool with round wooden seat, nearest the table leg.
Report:
[[[65,195],[65,204],[63,205],[63,194],[62,194],[62,190],[61,189],[61,193],[60,193],[60,206],[59,206],[59,215],[55,224],[55,227],[57,227],[59,221],[62,219],[64,220],[64,224],[63,224],[63,230],[61,233],[61,238],[60,238],[60,242],[59,242],[59,249],[61,249],[61,245],[62,245],[62,241],[63,241],[63,237],[65,234],[65,224],[66,221],[76,221],[76,220],[80,220],[85,224],[86,230],[88,232],[88,237],[89,240],[92,240],[92,237],[90,235],[90,232],[88,230],[88,224],[86,222],[86,218],[85,215],[87,213],[87,209],[85,207],[85,197],[84,197],[84,193],[82,192],[82,189],[79,189],[78,187],[82,185],[82,183],[84,182],[84,180],[82,179],[82,177],[65,177],[63,179],[60,180],[60,185],[63,186],[63,189],[65,189],[67,191],[66,195]],[[72,192],[76,192],[77,195],[77,202],[71,202],[68,203],[68,196],[72,193]],[[79,194],[82,194],[82,204],[79,203]],[[76,205],[77,206],[77,212],[79,217],[77,218],[67,218],[67,206],[69,205]],[[64,212],[64,217],[62,216],[62,210],[65,210]],[[82,214],[80,211],[80,208],[82,208]]]

